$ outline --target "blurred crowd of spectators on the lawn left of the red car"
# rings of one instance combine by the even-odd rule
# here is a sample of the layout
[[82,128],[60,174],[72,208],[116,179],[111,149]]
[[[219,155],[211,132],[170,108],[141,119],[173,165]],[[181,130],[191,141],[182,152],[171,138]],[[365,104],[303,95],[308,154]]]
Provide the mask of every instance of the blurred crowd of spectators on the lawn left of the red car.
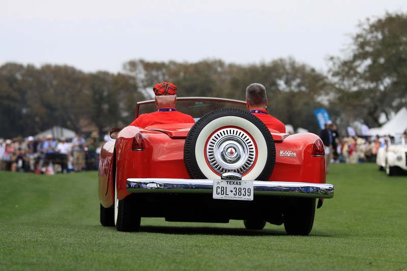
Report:
[[78,133],[72,140],[47,135],[0,138],[0,170],[44,174],[98,170],[101,143],[93,132],[86,140]]

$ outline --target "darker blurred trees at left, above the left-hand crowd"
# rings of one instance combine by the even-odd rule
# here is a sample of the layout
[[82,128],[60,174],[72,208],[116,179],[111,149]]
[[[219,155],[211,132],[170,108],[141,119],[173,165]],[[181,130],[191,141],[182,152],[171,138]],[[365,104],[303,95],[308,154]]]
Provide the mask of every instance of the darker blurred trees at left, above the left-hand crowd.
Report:
[[35,135],[55,125],[106,132],[131,122],[143,99],[128,75],[7,63],[0,67],[0,136]]

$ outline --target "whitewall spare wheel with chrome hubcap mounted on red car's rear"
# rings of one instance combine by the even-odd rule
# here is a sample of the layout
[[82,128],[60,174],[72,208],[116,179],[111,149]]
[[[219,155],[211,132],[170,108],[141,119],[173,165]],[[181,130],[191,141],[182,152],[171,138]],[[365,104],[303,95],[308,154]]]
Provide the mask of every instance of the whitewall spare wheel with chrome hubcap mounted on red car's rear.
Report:
[[[236,151],[230,152],[235,157],[230,158],[226,151],[229,146]],[[225,156],[233,161],[224,159]],[[216,179],[223,172],[234,171],[242,179],[268,180],[275,161],[276,147],[269,129],[256,116],[241,109],[209,112],[192,126],[185,140],[184,162],[194,179]]]

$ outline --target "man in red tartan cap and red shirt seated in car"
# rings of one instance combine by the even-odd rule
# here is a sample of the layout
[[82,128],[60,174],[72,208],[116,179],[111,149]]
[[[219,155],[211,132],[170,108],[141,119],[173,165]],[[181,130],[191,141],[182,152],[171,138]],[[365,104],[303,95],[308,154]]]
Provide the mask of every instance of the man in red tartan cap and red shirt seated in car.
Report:
[[195,123],[192,116],[178,112],[175,109],[175,104],[177,103],[176,85],[162,82],[156,84],[153,91],[158,111],[139,115],[129,126],[136,126],[144,129],[156,124]]

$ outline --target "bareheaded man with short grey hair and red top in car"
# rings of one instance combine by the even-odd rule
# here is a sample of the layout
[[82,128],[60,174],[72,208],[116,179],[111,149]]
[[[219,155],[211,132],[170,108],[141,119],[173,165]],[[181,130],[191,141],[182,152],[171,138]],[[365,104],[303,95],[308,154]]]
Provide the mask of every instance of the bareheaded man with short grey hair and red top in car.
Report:
[[277,133],[285,133],[285,125],[267,113],[267,95],[264,85],[253,83],[246,88],[246,104],[250,113],[258,117],[267,128]]

